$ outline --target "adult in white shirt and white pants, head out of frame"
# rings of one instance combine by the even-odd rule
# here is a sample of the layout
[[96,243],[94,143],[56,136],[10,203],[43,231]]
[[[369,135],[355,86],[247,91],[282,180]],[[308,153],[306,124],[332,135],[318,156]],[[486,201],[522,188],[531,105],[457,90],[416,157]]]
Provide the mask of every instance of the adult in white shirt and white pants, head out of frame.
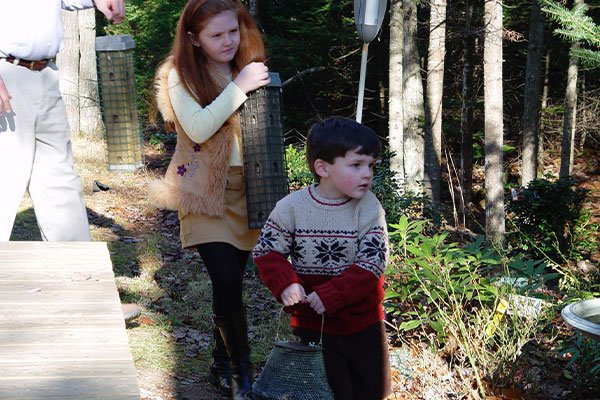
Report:
[[73,166],[67,116],[58,88],[59,72],[52,59],[63,45],[61,10],[94,5],[115,23],[125,15],[124,0],[2,4],[0,241],[10,239],[26,190],[44,240],[91,240],[81,180]]

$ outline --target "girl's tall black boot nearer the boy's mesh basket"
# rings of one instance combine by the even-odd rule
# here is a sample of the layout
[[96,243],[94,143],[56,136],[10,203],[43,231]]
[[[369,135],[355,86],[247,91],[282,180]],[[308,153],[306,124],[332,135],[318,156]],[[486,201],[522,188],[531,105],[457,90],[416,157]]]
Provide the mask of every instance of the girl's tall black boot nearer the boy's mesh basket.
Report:
[[253,372],[250,346],[248,346],[246,312],[215,316],[214,321],[221,332],[231,362],[231,397],[233,400],[250,399]]

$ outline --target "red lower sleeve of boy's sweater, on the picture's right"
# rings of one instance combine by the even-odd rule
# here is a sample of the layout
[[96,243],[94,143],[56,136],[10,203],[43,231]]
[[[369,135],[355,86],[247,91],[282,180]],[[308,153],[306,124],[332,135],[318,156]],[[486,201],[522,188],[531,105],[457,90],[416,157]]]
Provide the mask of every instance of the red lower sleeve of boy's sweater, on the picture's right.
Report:
[[351,265],[335,278],[315,285],[313,288],[329,315],[340,309],[358,303],[374,290],[383,290],[383,276],[377,278],[372,272]]

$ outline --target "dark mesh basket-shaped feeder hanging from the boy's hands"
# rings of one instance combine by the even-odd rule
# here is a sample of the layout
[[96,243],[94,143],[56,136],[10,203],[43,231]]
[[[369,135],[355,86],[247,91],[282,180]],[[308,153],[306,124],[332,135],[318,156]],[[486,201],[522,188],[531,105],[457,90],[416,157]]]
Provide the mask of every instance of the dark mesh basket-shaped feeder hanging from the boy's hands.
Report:
[[252,394],[257,400],[333,400],[321,346],[275,342]]

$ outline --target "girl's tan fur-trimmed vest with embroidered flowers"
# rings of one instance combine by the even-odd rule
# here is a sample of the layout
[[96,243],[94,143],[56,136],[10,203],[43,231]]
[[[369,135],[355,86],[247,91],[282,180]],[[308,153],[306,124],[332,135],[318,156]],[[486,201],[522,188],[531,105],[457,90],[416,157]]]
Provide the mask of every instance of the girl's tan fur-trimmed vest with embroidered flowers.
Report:
[[[155,84],[158,110],[165,122],[175,124],[177,144],[165,176],[149,183],[149,200],[158,208],[219,217],[225,212],[233,140],[241,134],[239,114],[234,113],[206,142],[193,142],[177,120],[169,99],[167,81],[172,68],[171,60],[163,63]],[[226,85],[222,83],[223,88]]]

